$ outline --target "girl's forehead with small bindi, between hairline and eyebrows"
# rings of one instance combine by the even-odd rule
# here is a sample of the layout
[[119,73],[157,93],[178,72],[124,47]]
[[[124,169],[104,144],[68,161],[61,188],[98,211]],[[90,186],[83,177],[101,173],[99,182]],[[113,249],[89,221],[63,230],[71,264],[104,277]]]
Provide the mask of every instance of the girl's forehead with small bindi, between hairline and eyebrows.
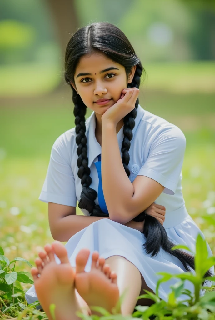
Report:
[[116,67],[123,69],[123,66],[119,63],[109,59],[104,53],[92,53],[91,55],[86,54],[81,57],[76,67],[76,73],[79,72],[99,72],[102,69],[108,67]]

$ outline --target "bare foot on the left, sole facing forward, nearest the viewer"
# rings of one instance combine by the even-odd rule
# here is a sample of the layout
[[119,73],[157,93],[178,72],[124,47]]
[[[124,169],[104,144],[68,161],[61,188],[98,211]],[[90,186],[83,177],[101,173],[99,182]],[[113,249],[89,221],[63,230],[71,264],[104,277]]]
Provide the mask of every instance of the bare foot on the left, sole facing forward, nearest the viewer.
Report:
[[[44,249],[45,252],[38,253],[40,259],[35,260],[37,268],[31,269],[41,306],[50,320],[53,320],[49,310],[52,303],[56,305],[56,320],[80,320],[75,314],[80,310],[75,294],[75,273],[69,263],[66,248],[59,241],[54,241],[52,245],[46,244]],[[56,263],[54,253],[61,264]]]

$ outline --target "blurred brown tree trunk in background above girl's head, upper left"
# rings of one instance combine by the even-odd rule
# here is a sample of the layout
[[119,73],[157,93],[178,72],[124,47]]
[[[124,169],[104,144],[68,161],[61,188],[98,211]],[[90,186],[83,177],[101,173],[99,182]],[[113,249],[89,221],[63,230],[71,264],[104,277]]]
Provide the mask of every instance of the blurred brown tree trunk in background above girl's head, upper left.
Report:
[[[75,0],[46,0],[50,12],[53,16],[53,21],[56,26],[57,40],[61,47],[62,70],[64,70],[65,50],[72,34],[77,31],[78,18],[76,13]],[[55,90],[62,88],[65,84],[63,73],[61,82]]]

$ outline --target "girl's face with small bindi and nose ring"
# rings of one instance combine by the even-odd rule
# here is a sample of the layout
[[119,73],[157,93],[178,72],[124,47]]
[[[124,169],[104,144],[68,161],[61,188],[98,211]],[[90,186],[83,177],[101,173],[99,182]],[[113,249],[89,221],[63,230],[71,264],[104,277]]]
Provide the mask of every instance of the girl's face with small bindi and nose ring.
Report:
[[[108,71],[101,71],[111,68]],[[115,69],[112,69],[115,68]],[[103,53],[93,53],[91,56],[83,56],[77,65],[75,72],[75,85],[72,86],[79,93],[84,104],[102,115],[108,108],[113,106],[121,97],[123,89],[132,82],[136,66],[134,66],[126,79],[125,68],[113,62]],[[91,75],[80,75],[88,73]],[[99,105],[95,101],[99,99],[111,99],[105,105]]]

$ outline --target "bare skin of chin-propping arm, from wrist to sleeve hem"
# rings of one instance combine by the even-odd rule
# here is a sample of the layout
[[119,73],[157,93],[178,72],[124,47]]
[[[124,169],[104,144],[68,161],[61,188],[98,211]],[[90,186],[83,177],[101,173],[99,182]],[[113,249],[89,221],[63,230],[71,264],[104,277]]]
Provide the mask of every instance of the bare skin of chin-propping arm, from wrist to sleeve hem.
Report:
[[133,181],[127,176],[116,135],[116,125],[102,121],[101,151],[102,188],[111,220],[127,223],[147,209],[163,192],[157,181],[138,176]]

